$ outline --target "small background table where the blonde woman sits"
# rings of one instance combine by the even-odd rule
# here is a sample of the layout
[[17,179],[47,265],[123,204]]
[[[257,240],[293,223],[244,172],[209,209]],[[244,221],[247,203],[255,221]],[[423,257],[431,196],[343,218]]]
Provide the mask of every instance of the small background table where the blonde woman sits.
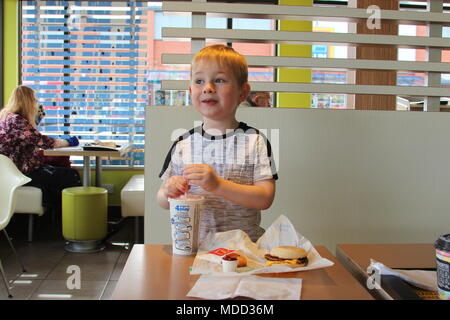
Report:
[[123,144],[114,150],[97,151],[83,150],[83,146],[66,147],[44,150],[46,156],[82,156],[83,157],[83,186],[88,187],[91,181],[90,158],[95,157],[95,185],[102,186],[102,157],[122,157],[130,151],[132,145]]

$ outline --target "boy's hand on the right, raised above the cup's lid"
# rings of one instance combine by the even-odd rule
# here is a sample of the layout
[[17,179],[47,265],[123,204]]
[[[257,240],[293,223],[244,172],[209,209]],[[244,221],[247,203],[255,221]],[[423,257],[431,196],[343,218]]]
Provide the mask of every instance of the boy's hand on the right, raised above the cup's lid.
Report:
[[183,171],[183,178],[190,184],[202,187],[203,190],[208,192],[217,189],[221,179],[214,169],[207,164],[191,164],[186,166]]

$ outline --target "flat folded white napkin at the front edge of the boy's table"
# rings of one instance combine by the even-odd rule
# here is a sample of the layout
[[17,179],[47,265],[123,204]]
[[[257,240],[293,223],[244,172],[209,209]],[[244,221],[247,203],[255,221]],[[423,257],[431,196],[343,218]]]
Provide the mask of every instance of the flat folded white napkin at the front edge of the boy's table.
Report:
[[299,300],[302,279],[259,276],[220,277],[202,275],[188,297],[228,299],[248,297],[256,300]]

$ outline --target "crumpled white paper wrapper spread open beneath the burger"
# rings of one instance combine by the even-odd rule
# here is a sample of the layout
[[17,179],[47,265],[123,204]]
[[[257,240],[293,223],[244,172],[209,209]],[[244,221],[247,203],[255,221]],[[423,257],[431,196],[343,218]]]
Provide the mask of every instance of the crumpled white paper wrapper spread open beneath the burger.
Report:
[[[264,266],[264,255],[273,247],[296,246],[308,251],[308,265],[306,267],[291,267],[288,265]],[[235,250],[247,257],[247,267],[238,268],[237,272],[222,272],[220,260],[223,255],[209,253],[210,251],[224,248]],[[224,251],[225,252],[225,251]],[[220,253],[219,253],[220,254]],[[215,276],[244,276],[258,273],[283,273],[294,271],[314,270],[332,266],[334,263],[322,258],[311,242],[295,230],[289,219],[281,215],[256,243],[252,242],[242,230],[230,230],[226,232],[209,233],[200,244],[191,274],[204,274]]]

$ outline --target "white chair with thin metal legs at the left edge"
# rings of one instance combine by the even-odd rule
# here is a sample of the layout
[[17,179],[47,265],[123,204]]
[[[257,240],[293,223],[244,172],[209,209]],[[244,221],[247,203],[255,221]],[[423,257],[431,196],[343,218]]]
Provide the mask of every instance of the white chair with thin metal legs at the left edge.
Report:
[[[23,266],[22,260],[20,260],[14,246],[12,245],[11,239],[6,232],[6,226],[8,225],[11,217],[14,213],[14,208],[16,206],[16,190],[19,186],[22,186],[31,181],[30,178],[23,175],[15,164],[8,157],[0,154],[0,177],[2,177],[2,183],[0,184],[0,230],[5,233],[6,239],[8,240],[11,249],[19,260],[22,266],[23,272],[26,272]],[[3,270],[2,262],[0,259],[0,272],[5,282],[6,291],[8,292],[8,297],[11,298],[11,292],[9,291],[9,284],[6,280],[5,271]]]

